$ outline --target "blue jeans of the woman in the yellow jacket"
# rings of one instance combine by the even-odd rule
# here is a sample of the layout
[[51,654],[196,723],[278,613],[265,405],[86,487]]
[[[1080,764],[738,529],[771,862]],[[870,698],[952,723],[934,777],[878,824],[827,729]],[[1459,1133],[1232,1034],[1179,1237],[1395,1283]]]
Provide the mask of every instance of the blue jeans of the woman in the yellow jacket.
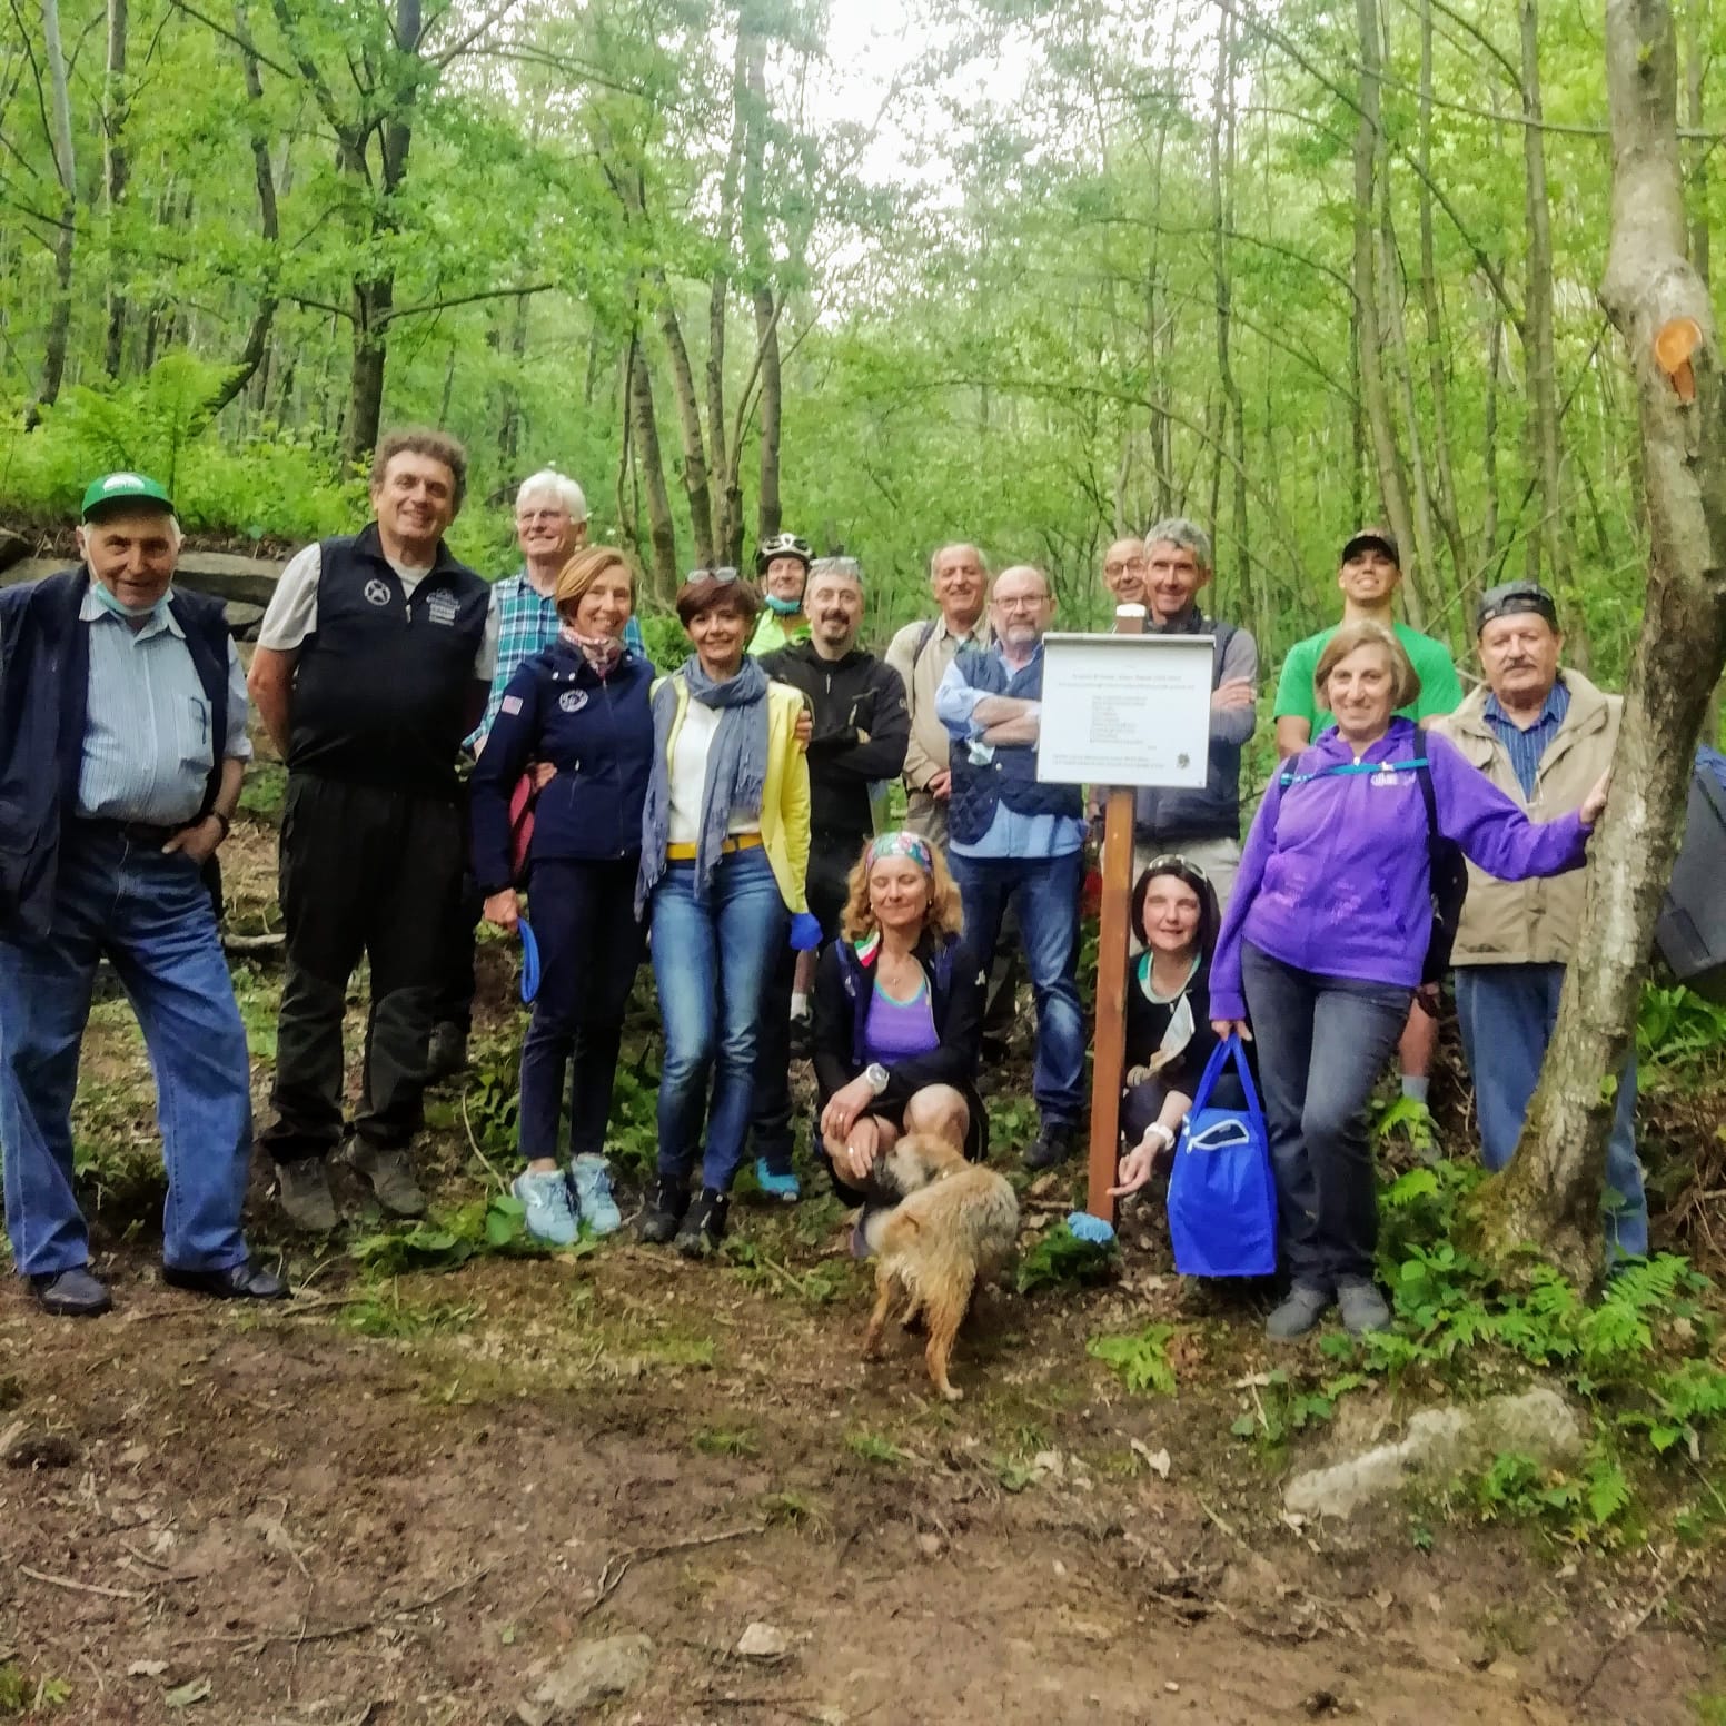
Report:
[[[708,1146],[701,1184],[728,1193],[744,1155],[754,1096],[761,987],[791,934],[791,913],[766,851],[728,851],[706,903],[696,865],[671,863],[652,892],[652,973],[665,1020],[659,1074],[659,1177],[687,1181]],[[708,1077],[713,1106],[706,1110]]]

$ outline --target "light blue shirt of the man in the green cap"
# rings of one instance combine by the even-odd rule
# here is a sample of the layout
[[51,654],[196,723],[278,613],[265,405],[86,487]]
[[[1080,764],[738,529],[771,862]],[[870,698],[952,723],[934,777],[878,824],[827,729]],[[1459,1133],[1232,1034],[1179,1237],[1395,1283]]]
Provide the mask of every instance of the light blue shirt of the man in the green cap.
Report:
[[[95,594],[85,594],[78,618],[90,627],[78,813],[183,827],[204,806],[216,753],[211,704],[185,632],[167,609],[167,595],[140,630],[107,611]],[[245,735],[245,673],[233,640],[228,642],[223,758],[252,759],[252,740]]]

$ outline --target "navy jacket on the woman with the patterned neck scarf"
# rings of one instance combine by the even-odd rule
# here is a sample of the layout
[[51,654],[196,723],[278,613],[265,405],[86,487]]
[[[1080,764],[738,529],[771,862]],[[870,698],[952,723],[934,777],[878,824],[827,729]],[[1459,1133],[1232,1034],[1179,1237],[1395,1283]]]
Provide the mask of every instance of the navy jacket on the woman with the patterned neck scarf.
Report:
[[625,652],[611,677],[601,678],[561,640],[521,661],[468,787],[473,873],[482,892],[514,885],[509,794],[530,761],[557,770],[533,804],[530,866],[542,858],[640,853],[654,756],[652,680],[652,663],[635,652]]

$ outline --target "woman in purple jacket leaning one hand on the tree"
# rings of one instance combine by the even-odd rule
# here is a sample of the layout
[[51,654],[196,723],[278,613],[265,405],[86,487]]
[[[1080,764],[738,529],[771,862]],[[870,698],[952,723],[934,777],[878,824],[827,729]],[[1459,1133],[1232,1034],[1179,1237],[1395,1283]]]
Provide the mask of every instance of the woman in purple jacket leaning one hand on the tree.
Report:
[[1607,780],[1572,815],[1528,816],[1443,737],[1395,718],[1420,690],[1379,623],[1331,637],[1313,678],[1336,715],[1282,763],[1258,808],[1210,975],[1219,1036],[1258,1027],[1281,1257],[1289,1293],[1272,1338],[1305,1336],[1334,1300],[1376,1331],[1377,1191],[1367,1101],[1420,982],[1433,904],[1420,773],[1438,828],[1503,880],[1581,868]]

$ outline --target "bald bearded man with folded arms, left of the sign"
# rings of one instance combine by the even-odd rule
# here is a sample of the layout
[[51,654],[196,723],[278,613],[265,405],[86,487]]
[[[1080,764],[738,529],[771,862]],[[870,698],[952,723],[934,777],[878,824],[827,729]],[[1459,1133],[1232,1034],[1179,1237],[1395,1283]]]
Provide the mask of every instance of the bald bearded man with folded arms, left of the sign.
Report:
[[948,856],[965,901],[965,929],[992,958],[1008,901],[1037,1003],[1032,1094],[1043,1131],[1025,1165],[1049,1169],[1074,1143],[1084,1112],[1084,1018],[1079,1011],[1079,889],[1084,797],[1037,782],[1043,637],[1055,597],[1041,570],[1003,570],[991,595],[994,646],[963,647],[935,692],[953,739]]

